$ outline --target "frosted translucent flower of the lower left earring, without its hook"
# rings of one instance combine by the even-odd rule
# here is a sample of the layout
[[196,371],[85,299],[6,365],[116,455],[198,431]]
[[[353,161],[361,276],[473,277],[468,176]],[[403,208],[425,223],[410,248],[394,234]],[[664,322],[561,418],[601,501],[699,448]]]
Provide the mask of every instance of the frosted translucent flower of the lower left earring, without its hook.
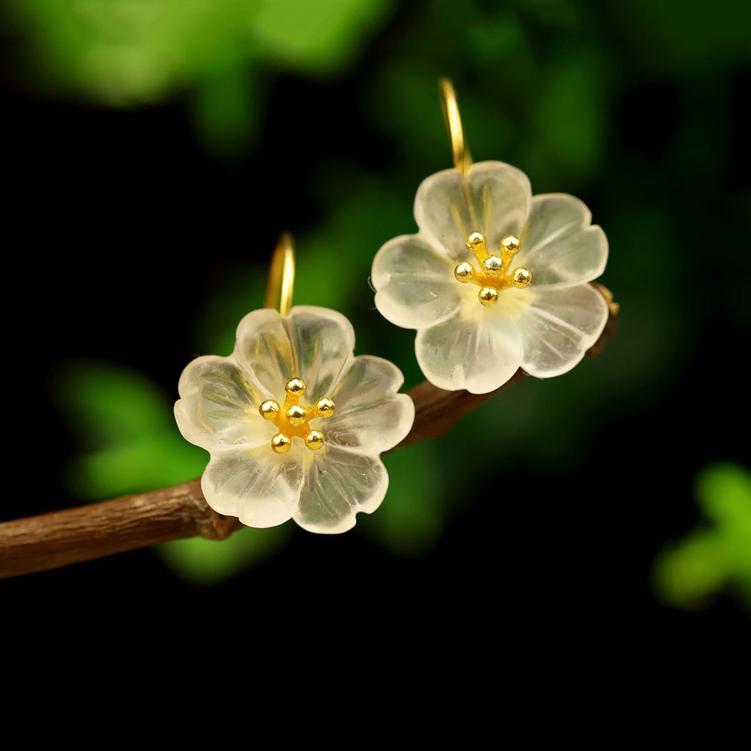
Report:
[[394,364],[353,350],[354,330],[336,311],[261,309],[240,321],[233,354],[185,368],[175,418],[211,454],[201,487],[213,509],[248,526],[294,518],[332,533],[381,505],[379,454],[409,433],[415,406],[397,394]]

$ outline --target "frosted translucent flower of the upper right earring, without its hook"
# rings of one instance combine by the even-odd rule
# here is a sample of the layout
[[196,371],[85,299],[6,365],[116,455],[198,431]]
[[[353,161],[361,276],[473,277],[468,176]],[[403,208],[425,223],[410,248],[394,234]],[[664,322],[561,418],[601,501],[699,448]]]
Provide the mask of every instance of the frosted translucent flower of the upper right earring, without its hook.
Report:
[[536,195],[500,161],[445,170],[415,198],[419,232],[375,256],[375,306],[418,330],[418,363],[448,391],[484,394],[521,366],[548,378],[576,365],[598,339],[608,306],[587,282],[608,240],[571,195]]

